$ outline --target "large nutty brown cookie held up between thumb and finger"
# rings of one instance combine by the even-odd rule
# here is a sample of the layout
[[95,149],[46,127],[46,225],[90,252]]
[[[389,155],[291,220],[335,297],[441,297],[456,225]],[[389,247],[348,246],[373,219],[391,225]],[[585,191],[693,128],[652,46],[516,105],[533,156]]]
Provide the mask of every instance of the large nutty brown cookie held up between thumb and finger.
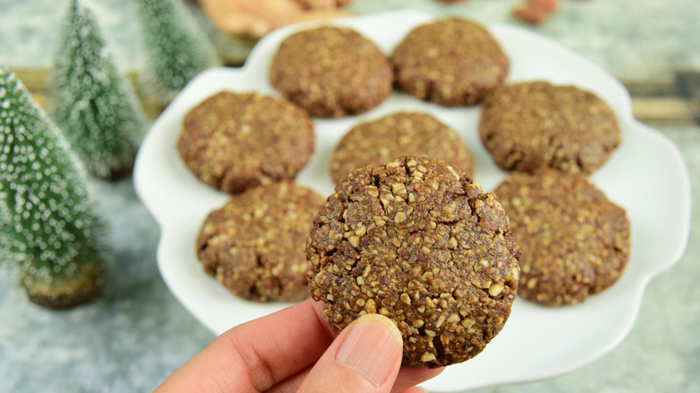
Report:
[[316,215],[311,296],[339,332],[365,313],[392,319],[404,365],[464,362],[498,334],[520,251],[493,193],[459,168],[401,157],[355,170]]

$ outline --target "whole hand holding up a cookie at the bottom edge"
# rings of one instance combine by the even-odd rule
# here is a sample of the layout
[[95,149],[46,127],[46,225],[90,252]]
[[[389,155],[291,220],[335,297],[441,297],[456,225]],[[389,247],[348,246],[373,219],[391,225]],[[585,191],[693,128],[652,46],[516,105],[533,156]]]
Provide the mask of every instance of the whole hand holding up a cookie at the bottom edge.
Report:
[[322,307],[302,301],[233,327],[156,392],[417,393],[417,383],[442,371],[401,369],[401,334],[386,317],[365,315],[335,337]]

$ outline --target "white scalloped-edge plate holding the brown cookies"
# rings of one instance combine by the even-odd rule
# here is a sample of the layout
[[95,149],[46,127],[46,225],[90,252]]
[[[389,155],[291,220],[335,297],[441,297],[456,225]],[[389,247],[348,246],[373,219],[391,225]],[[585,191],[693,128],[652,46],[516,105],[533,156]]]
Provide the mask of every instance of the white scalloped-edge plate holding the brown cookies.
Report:
[[[430,14],[402,11],[332,23],[360,31],[390,54],[409,30],[432,19]],[[284,37],[308,26],[267,35],[242,68],[217,68],[197,76],[155,121],[138,153],[136,190],[162,229],[157,258],[163,280],[185,308],[216,334],[287,304],[241,301],[202,271],[195,255],[197,231],[206,214],[223,205],[228,196],[199,182],[181,162],[175,149],[180,124],[188,109],[223,89],[277,95],[267,82],[269,60]],[[632,224],[632,251],[620,281],[582,305],[551,309],[516,300],[503,331],[482,354],[448,367],[424,384],[434,391],[541,380],[605,354],[633,326],[646,284],[681,257],[689,231],[689,181],[678,148],[634,120],[623,86],[548,39],[512,26],[488,28],[511,59],[509,82],[538,79],[574,84],[597,93],[616,111],[623,142],[591,180],[626,208]],[[503,179],[505,173],[495,167],[477,135],[480,108],[446,109],[393,92],[380,107],[362,116],[315,119],[316,150],[297,180],[328,196],[333,189],[328,162],[341,135],[359,121],[405,109],[427,111],[454,127],[474,153],[475,179],[485,189]]]

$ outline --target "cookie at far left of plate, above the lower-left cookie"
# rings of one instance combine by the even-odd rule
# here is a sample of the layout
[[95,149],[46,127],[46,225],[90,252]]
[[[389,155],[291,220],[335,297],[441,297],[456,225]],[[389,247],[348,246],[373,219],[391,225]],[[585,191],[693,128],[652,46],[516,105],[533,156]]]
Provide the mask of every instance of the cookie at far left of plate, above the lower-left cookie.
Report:
[[294,179],[313,145],[303,109],[279,97],[225,91],[188,111],[177,142],[188,169],[229,194]]

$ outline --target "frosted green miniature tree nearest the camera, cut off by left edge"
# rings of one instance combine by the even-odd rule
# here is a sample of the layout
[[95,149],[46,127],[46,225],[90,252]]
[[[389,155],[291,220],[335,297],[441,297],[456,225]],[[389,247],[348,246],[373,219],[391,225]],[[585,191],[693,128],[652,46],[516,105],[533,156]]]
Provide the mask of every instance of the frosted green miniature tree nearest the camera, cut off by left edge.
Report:
[[31,301],[64,309],[103,286],[103,224],[60,130],[0,66],[0,252]]

